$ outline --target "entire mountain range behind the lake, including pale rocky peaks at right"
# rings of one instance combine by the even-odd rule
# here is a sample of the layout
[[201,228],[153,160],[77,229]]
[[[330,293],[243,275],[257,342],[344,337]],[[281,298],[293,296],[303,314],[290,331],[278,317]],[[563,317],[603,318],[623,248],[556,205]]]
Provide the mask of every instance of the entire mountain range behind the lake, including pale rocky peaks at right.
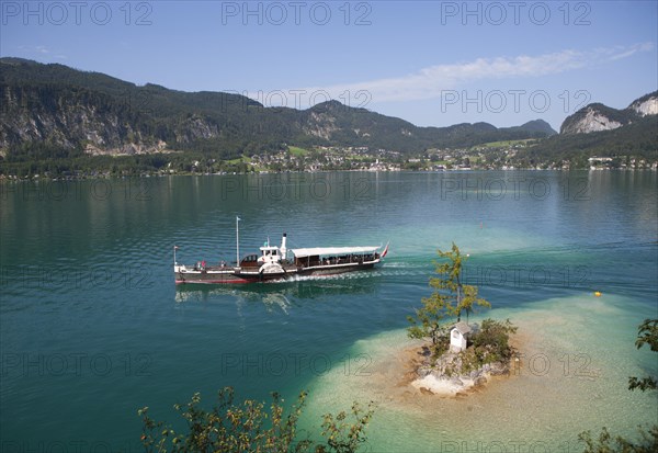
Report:
[[94,155],[194,151],[213,159],[279,152],[288,145],[387,149],[419,155],[491,141],[538,139],[529,162],[633,155],[658,159],[658,91],[626,109],[592,103],[557,134],[535,120],[517,127],[488,123],[419,127],[338,101],[307,110],[268,107],[225,92],[136,86],[58,64],[0,58],[0,161]]

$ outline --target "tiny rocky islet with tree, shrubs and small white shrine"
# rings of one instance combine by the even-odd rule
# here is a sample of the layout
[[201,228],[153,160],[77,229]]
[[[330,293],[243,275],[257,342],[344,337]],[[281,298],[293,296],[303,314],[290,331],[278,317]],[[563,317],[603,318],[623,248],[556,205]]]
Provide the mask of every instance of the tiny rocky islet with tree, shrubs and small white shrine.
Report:
[[[484,385],[491,376],[509,375],[512,363],[519,361],[510,343],[517,327],[509,319],[468,324],[475,306],[491,304],[478,297],[476,286],[461,282],[468,256],[462,256],[455,244],[451,251],[439,250],[439,256],[449,262],[436,263],[439,276],[430,279],[434,293],[422,299],[416,317],[408,317],[408,336],[429,340],[415,350],[420,360],[413,360],[411,385],[423,394],[456,396]],[[455,322],[444,322],[444,318],[455,317]]]

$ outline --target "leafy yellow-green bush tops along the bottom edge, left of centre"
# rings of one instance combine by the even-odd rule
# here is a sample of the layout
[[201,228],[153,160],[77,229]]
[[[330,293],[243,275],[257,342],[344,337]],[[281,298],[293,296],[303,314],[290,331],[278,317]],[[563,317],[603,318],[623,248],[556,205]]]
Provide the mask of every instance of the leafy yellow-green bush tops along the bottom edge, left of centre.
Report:
[[143,421],[141,444],[146,452],[358,452],[366,440],[365,428],[374,414],[372,404],[364,410],[354,403],[351,423],[344,411],[325,415],[321,434],[327,440],[319,444],[308,438],[297,439],[297,421],[306,396],[306,392],[299,394],[286,415],[276,393],[272,394],[269,411],[261,401],[236,404],[231,387],[219,390],[218,404],[206,411],[200,407],[201,396],[196,393],[186,405],[174,405],[188,422],[184,433],[155,421],[145,407],[137,411]]

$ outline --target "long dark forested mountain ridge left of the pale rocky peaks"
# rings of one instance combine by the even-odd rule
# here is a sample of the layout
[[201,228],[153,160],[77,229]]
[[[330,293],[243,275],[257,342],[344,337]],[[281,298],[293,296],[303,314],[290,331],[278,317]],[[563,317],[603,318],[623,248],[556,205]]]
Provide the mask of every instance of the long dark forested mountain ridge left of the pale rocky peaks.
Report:
[[201,150],[231,158],[285,145],[354,146],[420,152],[556,134],[536,120],[517,127],[488,123],[418,127],[338,101],[307,110],[265,107],[224,92],[183,92],[44,65],[0,59],[0,152],[47,146],[59,154]]

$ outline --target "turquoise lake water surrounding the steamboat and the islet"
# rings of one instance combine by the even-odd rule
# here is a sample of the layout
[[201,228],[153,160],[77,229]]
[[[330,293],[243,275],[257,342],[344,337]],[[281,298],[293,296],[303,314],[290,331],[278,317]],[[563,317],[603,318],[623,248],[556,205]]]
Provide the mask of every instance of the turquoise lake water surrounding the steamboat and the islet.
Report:
[[[377,452],[578,451],[585,429],[633,433],[658,421],[655,395],[626,390],[657,372],[634,347],[658,316],[657,185],[656,172],[601,171],[4,184],[3,451],[138,451],[137,408],[174,420],[173,403],[227,385],[288,401],[309,389],[310,432],[321,414],[374,400]],[[180,262],[235,260],[236,215],[245,253],[283,231],[291,247],[390,252],[372,272],[174,287],[173,245]],[[419,397],[397,386],[406,316],[452,241],[485,315],[517,322],[526,356],[466,399]]]

